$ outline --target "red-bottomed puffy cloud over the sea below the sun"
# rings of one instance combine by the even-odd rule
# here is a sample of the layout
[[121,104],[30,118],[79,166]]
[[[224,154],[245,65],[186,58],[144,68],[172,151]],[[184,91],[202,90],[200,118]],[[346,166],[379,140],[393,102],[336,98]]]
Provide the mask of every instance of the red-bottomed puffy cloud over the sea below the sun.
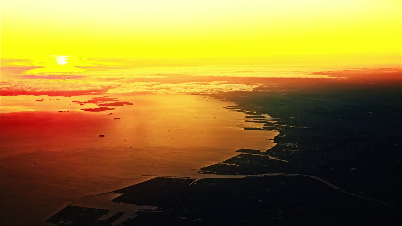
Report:
[[49,80],[26,79],[0,82],[1,96],[16,95],[48,95],[48,96],[78,96],[99,95],[111,88],[117,88],[118,82],[91,82],[87,80]]

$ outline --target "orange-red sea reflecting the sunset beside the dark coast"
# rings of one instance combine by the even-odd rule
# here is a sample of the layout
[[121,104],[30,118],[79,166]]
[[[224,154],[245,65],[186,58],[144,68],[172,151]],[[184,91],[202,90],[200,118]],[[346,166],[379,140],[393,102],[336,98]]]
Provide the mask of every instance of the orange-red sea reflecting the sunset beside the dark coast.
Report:
[[45,225],[80,196],[149,179],[141,175],[200,177],[191,169],[230,158],[239,148],[267,149],[277,135],[235,127],[255,123],[245,123],[245,114],[223,108],[234,103],[219,99],[116,96],[134,105],[104,112],[82,112],[96,105],[72,103],[90,98],[2,97],[2,112],[9,112],[1,114],[0,127],[2,225]]

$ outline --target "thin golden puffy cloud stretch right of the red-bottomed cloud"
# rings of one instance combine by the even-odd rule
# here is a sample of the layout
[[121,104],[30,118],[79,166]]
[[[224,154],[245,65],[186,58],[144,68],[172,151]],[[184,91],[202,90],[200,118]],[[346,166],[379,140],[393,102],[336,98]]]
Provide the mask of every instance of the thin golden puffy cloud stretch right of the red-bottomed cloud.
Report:
[[109,90],[109,93],[152,92],[172,94],[212,94],[232,91],[251,92],[259,86],[260,84],[228,84],[224,81],[185,83],[132,82],[113,88]]

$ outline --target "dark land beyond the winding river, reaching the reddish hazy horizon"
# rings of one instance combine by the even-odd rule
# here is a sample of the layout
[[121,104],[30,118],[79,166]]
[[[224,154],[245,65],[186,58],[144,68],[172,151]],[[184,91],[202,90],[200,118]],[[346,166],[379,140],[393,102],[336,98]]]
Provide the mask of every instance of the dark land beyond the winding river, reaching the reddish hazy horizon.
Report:
[[400,84],[298,88],[224,98],[278,118],[277,145],[267,152],[289,164],[276,172],[316,175],[400,206],[402,180],[393,173],[402,168]]

